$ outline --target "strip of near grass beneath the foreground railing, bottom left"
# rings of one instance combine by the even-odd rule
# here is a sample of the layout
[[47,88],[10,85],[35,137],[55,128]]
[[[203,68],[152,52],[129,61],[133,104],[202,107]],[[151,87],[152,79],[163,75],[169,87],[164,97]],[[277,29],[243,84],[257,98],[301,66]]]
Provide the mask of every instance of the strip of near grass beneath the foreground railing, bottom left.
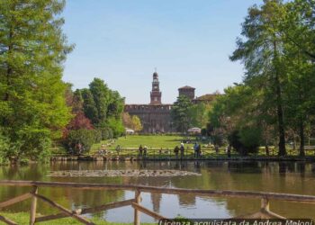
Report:
[[[30,213],[29,212],[5,212],[2,211],[0,213],[1,216],[4,216],[7,219],[13,220],[14,222],[16,222],[19,225],[26,225],[30,223]],[[101,219],[98,218],[92,218],[90,219],[91,221],[93,221],[95,224],[106,224],[106,225],[129,225],[129,224],[133,224],[133,223],[119,223],[119,222],[107,222],[107,221],[103,221]],[[4,222],[0,221],[0,224],[4,224]],[[67,224],[82,224],[81,222],[75,220],[75,219],[71,219],[71,218],[67,218],[67,219],[59,219],[59,220],[50,220],[50,221],[46,221],[46,222],[40,222],[40,224],[43,225],[67,225]],[[151,223],[154,224],[154,223]],[[147,223],[148,225],[148,223]]]

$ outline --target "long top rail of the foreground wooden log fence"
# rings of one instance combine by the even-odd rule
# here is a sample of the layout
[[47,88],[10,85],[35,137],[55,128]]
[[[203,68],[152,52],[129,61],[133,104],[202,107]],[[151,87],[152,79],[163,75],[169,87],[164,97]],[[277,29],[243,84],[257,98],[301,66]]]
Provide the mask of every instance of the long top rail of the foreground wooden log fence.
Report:
[[144,193],[169,193],[169,194],[193,194],[212,197],[241,197],[241,198],[267,198],[290,202],[315,203],[315,196],[293,193],[265,193],[249,191],[220,191],[220,190],[200,190],[184,188],[167,188],[146,185],[131,184],[87,184],[87,183],[63,183],[63,182],[41,182],[41,181],[0,181],[0,185],[10,186],[41,186],[41,187],[67,187],[89,190],[128,190]]

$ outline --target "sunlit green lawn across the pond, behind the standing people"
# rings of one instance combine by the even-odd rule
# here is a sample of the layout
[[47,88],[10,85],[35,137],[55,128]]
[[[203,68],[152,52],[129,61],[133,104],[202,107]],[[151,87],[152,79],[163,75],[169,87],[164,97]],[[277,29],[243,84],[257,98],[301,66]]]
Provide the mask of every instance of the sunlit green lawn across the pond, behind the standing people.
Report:
[[[187,158],[193,158],[193,144],[196,141],[194,137],[183,136],[166,136],[166,135],[129,135],[121,137],[119,139],[104,140],[100,143],[96,143],[92,146],[91,150],[86,155],[97,156],[100,149],[106,149],[106,156],[115,157],[120,155],[121,157],[137,157],[139,152],[139,145],[142,147],[147,146],[147,157],[175,157],[174,148],[180,146],[181,141],[184,140],[184,156]],[[186,141],[189,140],[189,143]],[[209,146],[209,141],[199,140],[197,141],[202,145],[202,156],[206,158],[227,157],[225,147],[220,147],[216,152],[213,146]],[[117,146],[121,147],[121,151],[118,153],[115,149]],[[162,150],[161,150],[162,149]],[[278,151],[275,147],[269,146],[270,157],[276,157]],[[315,150],[305,150],[306,156],[315,156]],[[293,150],[292,146],[287,146],[287,154],[290,157],[299,157],[299,149]],[[53,156],[67,155],[67,151],[64,148],[54,148],[52,151]],[[240,157],[234,150],[231,152],[231,157]],[[265,147],[260,147],[255,154],[249,154],[247,157],[267,157]],[[227,157],[228,158],[228,157]]]

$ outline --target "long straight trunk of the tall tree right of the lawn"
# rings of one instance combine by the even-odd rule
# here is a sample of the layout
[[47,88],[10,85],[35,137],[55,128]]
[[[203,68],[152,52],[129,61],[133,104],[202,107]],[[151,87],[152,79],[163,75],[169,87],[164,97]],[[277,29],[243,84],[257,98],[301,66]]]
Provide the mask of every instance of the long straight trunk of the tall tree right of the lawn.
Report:
[[276,94],[276,108],[277,108],[277,117],[278,117],[278,130],[279,130],[279,156],[286,155],[285,149],[285,132],[284,132],[284,109],[283,101],[281,94],[281,85],[279,77],[279,67],[278,67],[278,53],[277,45],[274,41],[274,67],[275,67],[275,94]]

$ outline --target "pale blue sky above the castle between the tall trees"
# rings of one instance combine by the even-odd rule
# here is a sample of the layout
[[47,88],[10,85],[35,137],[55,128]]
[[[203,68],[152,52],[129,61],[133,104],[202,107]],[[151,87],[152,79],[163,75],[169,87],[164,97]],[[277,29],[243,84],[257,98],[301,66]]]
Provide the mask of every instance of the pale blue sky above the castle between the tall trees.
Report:
[[162,103],[177,89],[196,96],[223,92],[240,82],[236,49],[247,8],[262,0],[67,0],[63,31],[76,48],[67,56],[63,79],[76,88],[99,77],[126,98],[149,103],[157,73]]

